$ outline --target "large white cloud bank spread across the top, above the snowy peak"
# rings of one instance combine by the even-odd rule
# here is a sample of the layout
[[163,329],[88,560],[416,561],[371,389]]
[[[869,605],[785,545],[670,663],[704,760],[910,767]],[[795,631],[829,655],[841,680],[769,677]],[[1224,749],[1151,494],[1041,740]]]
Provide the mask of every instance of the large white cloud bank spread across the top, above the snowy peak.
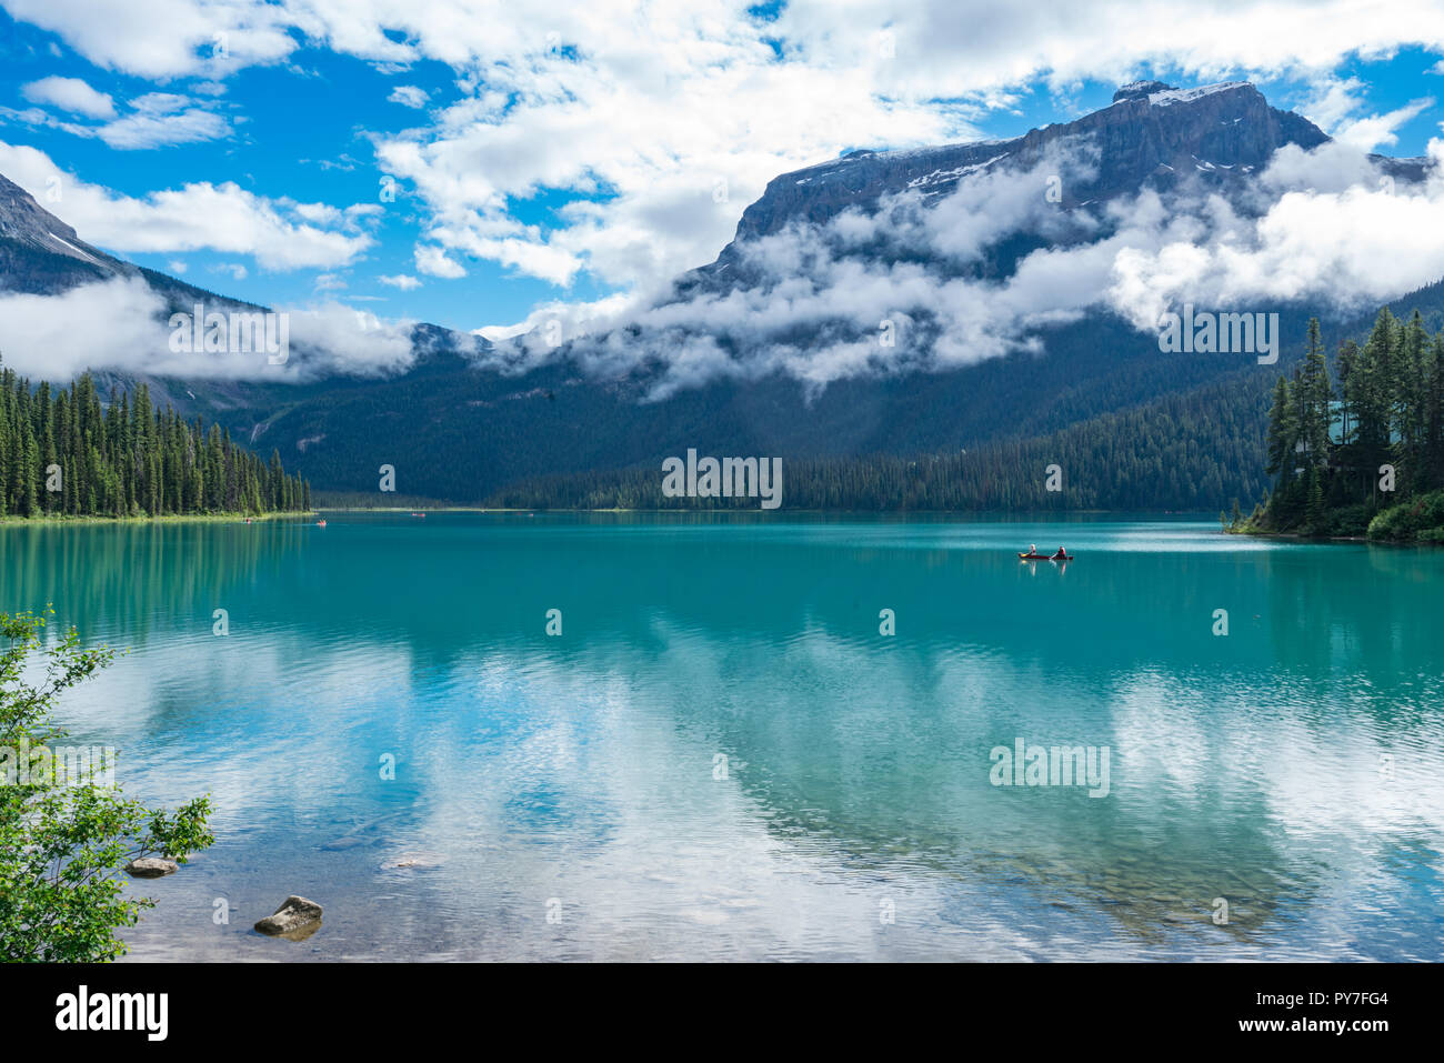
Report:
[[[546,19],[500,0],[0,0],[107,69],[219,79],[326,48],[387,74],[426,61],[464,98],[429,124],[373,134],[384,170],[423,205],[423,240],[554,285],[634,289],[712,259],[777,173],[866,144],[967,139],[1024,85],[1067,94],[1144,68],[1323,77],[1346,56],[1444,51],[1434,0],[559,0]],[[165,26],[165,33],[155,33]],[[212,82],[214,84],[214,82]],[[1339,95],[1343,92],[1343,97]],[[1321,114],[1347,100],[1347,82]],[[423,107],[403,85],[391,100]],[[777,105],[786,100],[787,105]],[[1341,116],[1340,116],[1341,117]],[[1391,143],[1408,116],[1352,117],[1349,143]],[[186,136],[218,134],[191,116]],[[113,133],[144,143],[152,124]],[[544,225],[539,196],[573,199]]]

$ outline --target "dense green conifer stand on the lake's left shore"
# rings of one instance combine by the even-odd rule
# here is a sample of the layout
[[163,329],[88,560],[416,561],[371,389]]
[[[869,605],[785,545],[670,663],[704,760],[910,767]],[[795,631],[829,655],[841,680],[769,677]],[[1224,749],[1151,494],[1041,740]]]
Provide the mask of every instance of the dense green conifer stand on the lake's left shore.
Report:
[[279,454],[263,462],[217,425],[153,409],[144,384],[103,407],[90,374],[52,390],[0,371],[0,517],[309,508],[309,484]]

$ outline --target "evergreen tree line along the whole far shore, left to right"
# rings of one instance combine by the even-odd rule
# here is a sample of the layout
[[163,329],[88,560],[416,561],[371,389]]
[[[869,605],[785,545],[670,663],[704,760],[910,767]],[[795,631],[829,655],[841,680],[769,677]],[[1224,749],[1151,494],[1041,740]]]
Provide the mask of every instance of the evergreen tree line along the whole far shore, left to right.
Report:
[[[1220,514],[1230,532],[1444,543],[1444,329],[1431,334],[1418,311],[1405,319],[1385,308],[1363,342],[1344,339],[1330,360],[1313,319],[1302,357],[1274,384],[1266,433],[1261,399],[1253,377],[969,451],[788,459],[781,506],[1181,513],[1207,511],[1235,488],[1235,498],[1262,501],[1252,513],[1235,501],[1232,514]],[[1054,464],[1063,491],[1041,475]],[[361,508],[375,501],[347,491],[322,493],[322,500]],[[667,497],[660,472],[648,467],[523,478],[475,504],[647,511],[747,510],[757,501]],[[144,384],[111,393],[103,407],[90,374],[52,391],[0,371],[0,520],[258,517],[310,508],[310,485],[289,475],[276,451],[263,462],[217,425],[155,410]]]

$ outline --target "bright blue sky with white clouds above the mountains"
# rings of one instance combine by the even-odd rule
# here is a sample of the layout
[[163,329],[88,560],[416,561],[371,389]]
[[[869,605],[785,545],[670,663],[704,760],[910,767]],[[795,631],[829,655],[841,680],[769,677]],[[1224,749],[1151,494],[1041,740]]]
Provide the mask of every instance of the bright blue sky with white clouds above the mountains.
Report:
[[0,0],[0,172],[82,238],[201,287],[477,329],[710,260],[786,169],[1017,136],[1106,105],[1125,77],[1252,79],[1398,156],[1444,120],[1427,13],[1349,32],[1301,4],[1297,39],[1239,23],[1230,43],[1216,30],[1236,9],[1187,4],[1174,27],[1207,43],[1184,46],[1167,12],[1105,45],[996,4],[562,4],[556,29],[466,6]]

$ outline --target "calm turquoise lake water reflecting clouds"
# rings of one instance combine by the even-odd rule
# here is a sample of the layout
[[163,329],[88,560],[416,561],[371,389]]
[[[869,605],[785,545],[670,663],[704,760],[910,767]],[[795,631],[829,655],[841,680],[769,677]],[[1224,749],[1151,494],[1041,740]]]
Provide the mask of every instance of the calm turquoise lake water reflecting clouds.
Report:
[[[130,793],[217,800],[134,959],[1437,960],[1441,560],[332,514],[0,527],[0,609],[129,647],[66,722]],[[1106,751],[1106,794],[993,784],[1019,738]],[[321,932],[254,934],[290,893]]]

